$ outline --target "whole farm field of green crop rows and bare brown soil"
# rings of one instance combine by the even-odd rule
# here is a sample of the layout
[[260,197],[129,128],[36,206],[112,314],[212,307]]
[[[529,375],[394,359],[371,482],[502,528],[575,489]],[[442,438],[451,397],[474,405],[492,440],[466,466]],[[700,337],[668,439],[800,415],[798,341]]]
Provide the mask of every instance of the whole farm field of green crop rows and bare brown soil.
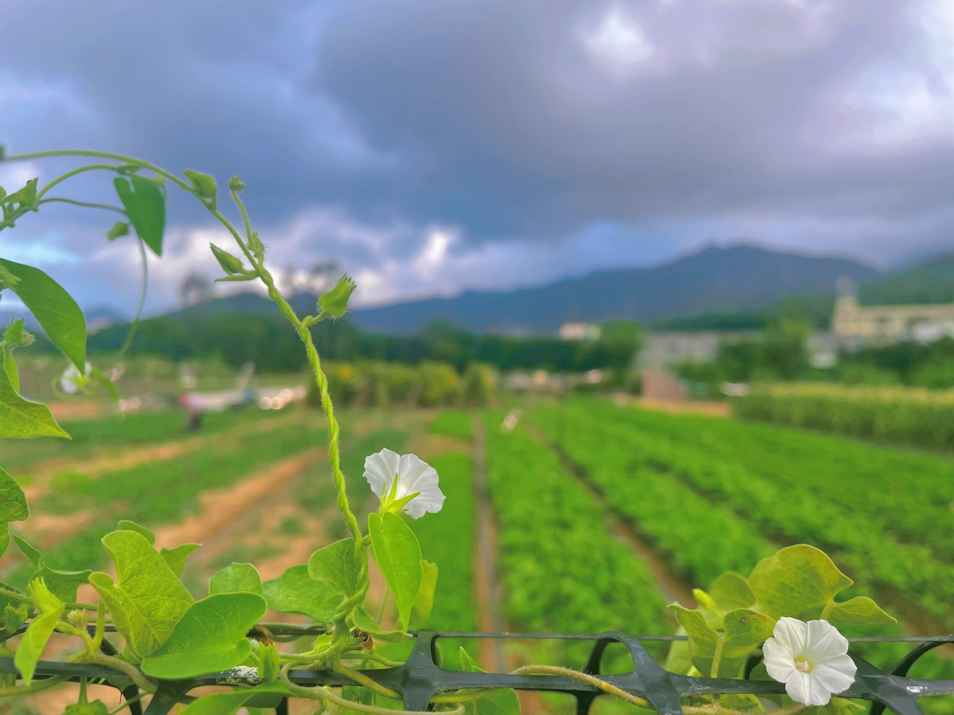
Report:
[[[342,469],[361,521],[377,506],[362,479],[367,455],[414,452],[441,475],[444,509],[410,522],[425,559],[440,568],[428,627],[480,630],[496,617],[516,632],[668,635],[675,623],[667,603],[692,606],[692,589],[723,571],[747,574],[779,547],[810,542],[856,581],[849,596],[870,595],[901,622],[845,632],[954,629],[954,461],[943,455],[598,398],[522,409],[510,432],[497,410],[342,411]],[[155,531],[157,546],[203,544],[182,574],[202,597],[232,562],[254,562],[263,580],[274,579],[345,533],[317,410],[212,415],[197,433],[185,432],[177,411],[64,427],[72,442],[23,440],[0,456],[31,500],[31,520],[15,530],[54,568],[107,566],[99,540],[129,519]],[[479,556],[487,553],[492,564]],[[489,590],[488,574],[496,579]],[[28,576],[10,548],[0,581],[19,586]],[[371,602],[377,607],[383,595],[376,576]],[[393,619],[389,608],[384,614]],[[453,646],[443,649],[448,667],[458,666]],[[490,663],[485,644],[466,646]],[[648,646],[665,657],[664,645]],[[860,650],[888,665],[907,648]],[[511,666],[580,667],[587,653],[585,644],[520,641],[504,656]],[[607,665],[626,661],[611,652]],[[918,667],[954,678],[954,656],[943,651]],[[31,702],[39,711],[51,706],[42,696]],[[554,713],[569,706],[548,698],[525,705]]]

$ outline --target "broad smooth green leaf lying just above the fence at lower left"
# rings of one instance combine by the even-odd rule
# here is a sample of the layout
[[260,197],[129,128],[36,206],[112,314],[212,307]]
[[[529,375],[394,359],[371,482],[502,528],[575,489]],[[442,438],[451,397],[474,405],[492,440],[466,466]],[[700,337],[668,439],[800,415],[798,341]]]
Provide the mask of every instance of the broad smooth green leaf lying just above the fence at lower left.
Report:
[[182,679],[235,667],[252,652],[245,634],[266,610],[265,600],[254,593],[217,593],[197,601],[169,638],[143,660],[142,671]]

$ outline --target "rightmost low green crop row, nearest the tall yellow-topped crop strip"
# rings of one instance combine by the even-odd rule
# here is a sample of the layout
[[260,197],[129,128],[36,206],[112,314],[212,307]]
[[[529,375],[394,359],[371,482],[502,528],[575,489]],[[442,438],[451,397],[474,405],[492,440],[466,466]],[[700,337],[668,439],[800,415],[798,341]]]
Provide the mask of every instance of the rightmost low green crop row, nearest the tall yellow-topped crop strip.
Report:
[[595,403],[587,411],[665,439],[680,452],[736,465],[766,483],[785,484],[786,494],[811,494],[829,511],[837,507],[840,521],[867,521],[895,541],[921,544],[942,562],[954,562],[951,460],[730,419],[621,412]]

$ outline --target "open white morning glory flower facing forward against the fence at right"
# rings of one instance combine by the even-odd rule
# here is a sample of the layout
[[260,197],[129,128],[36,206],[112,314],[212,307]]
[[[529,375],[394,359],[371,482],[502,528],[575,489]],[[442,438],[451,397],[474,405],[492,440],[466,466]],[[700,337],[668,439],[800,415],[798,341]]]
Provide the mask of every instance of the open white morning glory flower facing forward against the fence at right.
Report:
[[828,705],[855,682],[848,641],[831,623],[780,618],[773,635],[762,646],[765,669],[796,703]]

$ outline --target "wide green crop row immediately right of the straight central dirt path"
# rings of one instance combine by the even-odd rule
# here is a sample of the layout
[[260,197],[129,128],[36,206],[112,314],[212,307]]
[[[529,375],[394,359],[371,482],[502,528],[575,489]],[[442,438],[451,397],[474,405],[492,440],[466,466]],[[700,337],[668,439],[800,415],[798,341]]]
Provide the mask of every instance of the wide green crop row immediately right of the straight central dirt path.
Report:
[[511,629],[665,633],[665,603],[646,565],[610,533],[603,508],[557,455],[487,416],[487,480],[497,518]]

